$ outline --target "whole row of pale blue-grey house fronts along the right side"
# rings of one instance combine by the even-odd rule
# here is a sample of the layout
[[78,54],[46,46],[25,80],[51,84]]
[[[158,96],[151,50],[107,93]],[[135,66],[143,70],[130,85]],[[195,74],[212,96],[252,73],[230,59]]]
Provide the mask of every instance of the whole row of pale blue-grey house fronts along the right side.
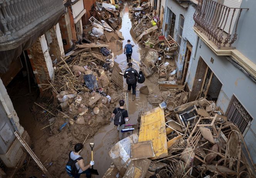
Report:
[[162,32],[179,49],[177,79],[189,101],[207,97],[243,133],[256,162],[256,2],[166,0]]

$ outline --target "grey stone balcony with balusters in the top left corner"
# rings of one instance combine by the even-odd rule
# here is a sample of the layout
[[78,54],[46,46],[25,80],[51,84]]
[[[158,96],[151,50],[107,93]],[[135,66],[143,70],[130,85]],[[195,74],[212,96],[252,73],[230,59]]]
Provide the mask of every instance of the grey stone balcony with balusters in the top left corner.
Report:
[[0,72],[40,35],[57,24],[64,13],[62,0],[0,1]]

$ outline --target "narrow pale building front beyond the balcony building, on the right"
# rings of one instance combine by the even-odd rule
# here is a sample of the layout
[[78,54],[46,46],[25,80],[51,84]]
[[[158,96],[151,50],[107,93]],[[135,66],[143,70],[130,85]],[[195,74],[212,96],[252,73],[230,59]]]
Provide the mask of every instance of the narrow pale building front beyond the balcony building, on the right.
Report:
[[197,39],[197,35],[192,29],[195,23],[193,20],[195,7],[195,3],[187,3],[187,1],[186,3],[177,0],[166,0],[165,2],[162,31],[165,37],[170,35],[179,45],[175,63],[177,79],[182,84],[185,83],[189,62],[192,59],[192,52]]

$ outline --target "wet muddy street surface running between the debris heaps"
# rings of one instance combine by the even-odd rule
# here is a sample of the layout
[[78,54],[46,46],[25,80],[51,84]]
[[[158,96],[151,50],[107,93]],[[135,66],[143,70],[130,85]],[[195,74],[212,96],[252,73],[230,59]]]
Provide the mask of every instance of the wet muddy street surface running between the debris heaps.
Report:
[[[127,40],[131,40],[131,44],[135,45],[133,47],[133,54],[132,54],[132,63],[133,68],[136,69],[138,72],[140,70],[139,64],[140,64],[140,46],[135,42],[135,40],[130,35],[130,29],[131,29],[131,21],[129,18],[129,8],[127,3],[125,3],[125,7],[123,8],[123,11],[121,12],[122,16],[122,26],[120,31],[123,33],[123,47],[127,44]],[[123,50],[123,49],[122,49]],[[127,68],[127,62],[126,62],[126,55],[123,54],[123,52],[119,52],[119,55],[116,56],[115,59],[116,62],[119,63],[121,70],[124,72]],[[148,86],[148,89],[150,92],[157,91],[158,86],[152,84],[150,81],[146,79],[146,81],[143,84],[137,84],[136,87],[136,100],[132,101],[132,94],[129,93],[128,96],[128,102],[129,102],[129,119],[130,124],[136,124],[138,119],[138,114],[140,111],[146,112],[150,109],[155,108],[155,106],[152,106],[147,102],[147,96],[140,94],[139,89],[141,86]],[[124,79],[124,91],[127,89],[127,84]],[[125,92],[124,92],[124,98],[125,98]],[[125,106],[126,108],[126,106]],[[138,132],[138,131],[137,131]],[[124,135],[126,136],[126,134]],[[88,139],[86,141],[86,148],[83,149],[81,155],[88,158],[88,160],[85,160],[86,163],[89,164],[89,159],[91,158],[91,148],[89,147],[89,143],[94,142],[94,169],[97,169],[99,172],[99,176],[95,176],[96,178],[101,178],[106,170],[108,170],[109,166],[112,163],[111,158],[109,157],[108,152],[112,148],[112,146],[118,142],[118,131],[116,130],[113,123],[110,123],[107,126],[103,126],[101,129],[99,129],[98,133],[94,135],[93,138]]]

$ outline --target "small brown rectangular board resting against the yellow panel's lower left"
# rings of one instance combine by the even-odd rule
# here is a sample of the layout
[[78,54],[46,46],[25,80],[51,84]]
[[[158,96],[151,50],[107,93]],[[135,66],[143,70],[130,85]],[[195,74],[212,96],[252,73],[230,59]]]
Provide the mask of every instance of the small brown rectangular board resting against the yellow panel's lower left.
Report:
[[141,141],[131,144],[131,160],[140,160],[154,157],[151,141]]

